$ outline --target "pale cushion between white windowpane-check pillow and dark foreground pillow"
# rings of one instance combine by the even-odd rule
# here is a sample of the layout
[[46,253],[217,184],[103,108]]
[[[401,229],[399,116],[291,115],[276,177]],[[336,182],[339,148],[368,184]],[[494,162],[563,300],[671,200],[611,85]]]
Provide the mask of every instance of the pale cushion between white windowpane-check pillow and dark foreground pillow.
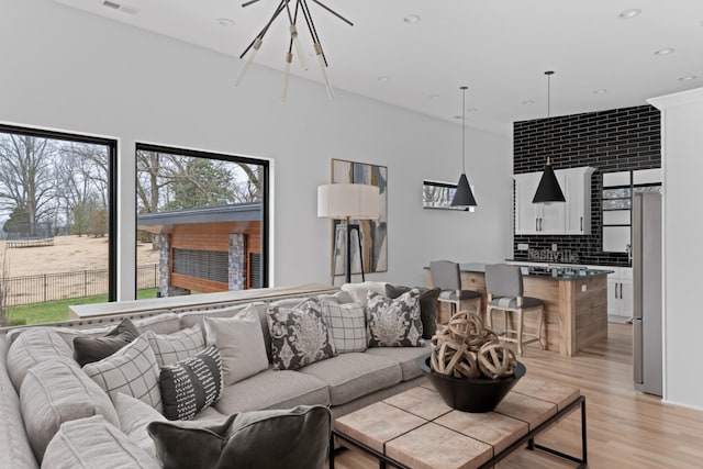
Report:
[[152,422],[166,422],[166,417],[150,405],[121,392],[114,400],[114,409],[120,418],[120,429],[132,443],[156,459],[156,448],[146,426]]

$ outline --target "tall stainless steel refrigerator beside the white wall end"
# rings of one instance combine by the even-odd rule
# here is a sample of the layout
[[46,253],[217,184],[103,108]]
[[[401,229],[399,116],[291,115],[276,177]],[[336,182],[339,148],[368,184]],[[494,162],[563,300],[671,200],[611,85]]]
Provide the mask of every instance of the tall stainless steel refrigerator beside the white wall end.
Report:
[[635,389],[661,395],[661,194],[633,197]]

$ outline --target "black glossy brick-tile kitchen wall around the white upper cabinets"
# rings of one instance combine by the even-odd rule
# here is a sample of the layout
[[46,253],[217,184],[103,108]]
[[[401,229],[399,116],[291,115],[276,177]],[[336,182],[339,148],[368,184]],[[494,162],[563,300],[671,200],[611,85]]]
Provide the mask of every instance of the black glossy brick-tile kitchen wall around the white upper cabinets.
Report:
[[601,192],[603,172],[661,167],[661,119],[651,105],[613,109],[576,115],[522,121],[513,124],[513,172],[535,172],[547,157],[555,169],[591,166],[591,235],[515,235],[513,256],[528,260],[531,249],[570,250],[578,264],[629,267],[627,254],[602,250]]

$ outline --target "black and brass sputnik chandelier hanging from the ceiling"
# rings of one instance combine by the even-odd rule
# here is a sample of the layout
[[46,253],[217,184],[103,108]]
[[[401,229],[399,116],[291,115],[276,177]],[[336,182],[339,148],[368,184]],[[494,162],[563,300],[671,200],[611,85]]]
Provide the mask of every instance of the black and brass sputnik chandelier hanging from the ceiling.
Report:
[[[259,1],[260,0],[249,0],[245,3],[242,3],[242,7],[243,8],[248,7]],[[322,2],[317,0],[312,0],[312,1],[319,4],[320,7],[322,7],[325,11],[334,14],[335,16],[337,16],[339,20],[344,21],[348,25],[354,26],[354,23],[352,23],[349,20],[342,16],[339,13],[335,12],[331,8],[326,7]],[[293,2],[295,3],[295,7],[291,8],[290,3],[293,3]],[[293,46],[295,47],[295,55],[298,56],[298,62],[300,63],[300,66],[302,67],[303,70],[308,69],[308,62],[305,60],[305,54],[303,53],[303,48],[302,48],[302,45],[300,44],[300,38],[298,34],[299,14],[303,16],[305,24],[308,26],[308,31],[310,32],[310,36],[312,38],[312,47],[315,55],[317,56],[320,68],[322,69],[322,77],[324,78],[324,81],[325,81],[327,96],[330,97],[331,100],[334,99],[334,90],[332,88],[332,82],[330,81],[330,75],[327,74],[327,57],[325,57],[325,53],[322,48],[322,43],[320,42],[320,36],[317,35],[317,30],[315,29],[315,23],[313,23],[312,21],[312,15],[310,14],[310,8],[308,7],[308,0],[281,0],[280,1],[271,19],[268,21],[268,23],[266,23],[264,29],[256,35],[256,37],[254,37],[254,41],[249,43],[249,45],[244,49],[244,52],[239,56],[239,58],[244,58],[244,56],[246,56],[246,59],[244,60],[244,65],[242,66],[242,70],[239,70],[239,75],[237,76],[237,80],[235,81],[234,86],[238,87],[239,85],[242,85],[242,80],[244,79],[244,76],[246,75],[247,69],[249,68],[249,65],[252,65],[252,62],[254,62],[254,57],[256,56],[256,53],[261,48],[261,44],[264,43],[264,36],[268,32],[271,24],[274,24],[276,19],[282,12],[286,12],[288,16],[290,42],[288,45],[288,52],[286,53],[286,72],[283,75],[283,91],[281,94],[281,100],[286,101],[286,98],[288,96],[288,81],[290,79],[290,67],[291,67],[291,63],[293,62]]]

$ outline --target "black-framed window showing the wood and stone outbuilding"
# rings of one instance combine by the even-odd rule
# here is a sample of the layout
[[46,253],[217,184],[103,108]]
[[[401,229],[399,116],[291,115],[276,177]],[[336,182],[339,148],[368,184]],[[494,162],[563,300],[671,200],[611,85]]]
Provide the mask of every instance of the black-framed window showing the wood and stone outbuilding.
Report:
[[137,290],[268,284],[267,161],[137,144],[136,165]]

